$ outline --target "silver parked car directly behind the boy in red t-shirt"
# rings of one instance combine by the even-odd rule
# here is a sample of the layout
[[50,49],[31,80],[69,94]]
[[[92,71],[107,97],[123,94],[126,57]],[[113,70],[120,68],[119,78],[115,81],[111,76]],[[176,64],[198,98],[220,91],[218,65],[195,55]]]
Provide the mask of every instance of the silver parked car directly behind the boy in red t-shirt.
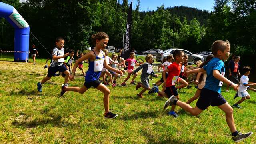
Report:
[[[162,62],[164,58],[166,58],[169,54],[173,54],[173,51],[176,50],[178,48],[171,48],[168,50],[165,50],[164,52],[160,52],[158,53],[158,55],[156,56],[156,61],[158,62]],[[183,49],[178,49],[178,50],[182,50],[184,51],[184,53],[186,53],[188,55],[188,63],[196,63],[198,60],[204,61],[204,57],[200,56],[198,54],[192,54],[191,52],[187,51],[187,50],[183,50]]]

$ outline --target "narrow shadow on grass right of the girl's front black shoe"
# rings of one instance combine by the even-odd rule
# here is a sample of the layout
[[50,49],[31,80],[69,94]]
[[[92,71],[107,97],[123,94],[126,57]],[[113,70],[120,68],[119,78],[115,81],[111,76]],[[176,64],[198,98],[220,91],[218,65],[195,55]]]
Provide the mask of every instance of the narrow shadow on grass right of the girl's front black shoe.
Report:
[[137,120],[139,118],[156,118],[158,117],[158,114],[160,113],[160,111],[155,110],[155,111],[148,111],[145,112],[144,110],[142,110],[141,112],[135,112],[135,114],[132,115],[125,115],[122,118],[120,118],[121,120]]

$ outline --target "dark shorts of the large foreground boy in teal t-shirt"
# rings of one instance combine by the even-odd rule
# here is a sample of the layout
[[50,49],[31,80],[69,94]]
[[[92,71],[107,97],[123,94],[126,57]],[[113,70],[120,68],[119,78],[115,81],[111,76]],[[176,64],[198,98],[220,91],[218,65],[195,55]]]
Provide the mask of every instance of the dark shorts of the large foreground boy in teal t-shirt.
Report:
[[208,106],[220,106],[225,104],[227,101],[223,96],[207,88],[201,90],[200,96],[196,102],[196,106],[201,110],[205,110]]

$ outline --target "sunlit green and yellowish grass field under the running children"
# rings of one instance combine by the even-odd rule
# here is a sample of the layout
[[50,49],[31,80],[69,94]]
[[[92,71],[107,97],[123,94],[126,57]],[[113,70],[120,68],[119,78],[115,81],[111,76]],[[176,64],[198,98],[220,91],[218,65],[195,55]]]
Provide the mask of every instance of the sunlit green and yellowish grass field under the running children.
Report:
[[[30,58],[30,61],[32,59]],[[89,143],[89,144],[230,144],[234,143],[226,124],[225,114],[217,107],[209,107],[199,116],[192,116],[180,108],[173,118],[163,110],[166,98],[156,94],[144,94],[135,86],[117,86],[110,94],[110,110],[119,116],[113,120],[104,119],[103,94],[90,88],[84,94],[67,92],[60,97],[62,77],[53,77],[36,90],[36,83],[47,74],[45,59],[32,63],[13,62],[12,56],[0,59],[0,143]],[[156,67],[156,66],[155,66]],[[84,68],[87,68],[86,64]],[[71,86],[82,86],[84,78],[76,70]],[[158,74],[160,75],[160,74]],[[127,76],[127,74],[125,74]],[[118,84],[125,78],[117,80]],[[154,78],[156,82],[159,78]],[[136,78],[140,81],[140,76]],[[130,80],[128,81],[130,82]],[[152,85],[152,81],[150,81]],[[230,104],[234,90],[222,95]],[[180,100],[187,101],[196,89],[184,88],[179,92]],[[250,100],[234,108],[234,119],[241,132],[256,132],[256,93],[249,91]],[[30,99],[28,99],[30,98]],[[195,106],[196,102],[192,102]],[[256,143],[255,134],[241,143]]]

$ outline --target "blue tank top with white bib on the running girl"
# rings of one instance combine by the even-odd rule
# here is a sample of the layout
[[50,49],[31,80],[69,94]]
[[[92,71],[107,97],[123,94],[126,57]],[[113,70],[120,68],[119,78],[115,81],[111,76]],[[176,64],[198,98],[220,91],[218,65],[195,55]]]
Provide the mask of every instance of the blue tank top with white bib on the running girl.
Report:
[[93,82],[93,81],[98,80],[100,78],[100,74],[101,74],[103,64],[104,64],[104,60],[105,60],[103,52],[101,50],[100,50],[100,52],[103,55],[102,58],[98,57],[94,52],[94,54],[96,56],[96,59],[94,61],[90,61],[90,60],[88,61],[89,62],[89,69],[87,70],[86,76],[85,76],[85,81],[86,82]]

